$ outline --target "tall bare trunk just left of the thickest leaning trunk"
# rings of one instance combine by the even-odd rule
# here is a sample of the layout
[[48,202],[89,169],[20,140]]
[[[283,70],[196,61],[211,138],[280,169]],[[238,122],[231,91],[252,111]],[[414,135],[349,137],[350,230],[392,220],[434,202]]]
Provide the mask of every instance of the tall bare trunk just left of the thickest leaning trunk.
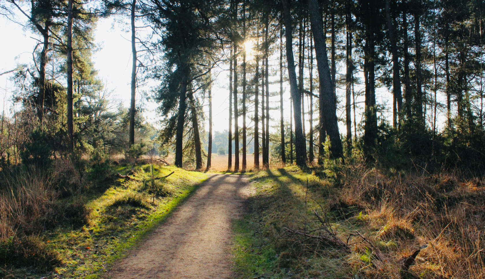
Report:
[[[317,1],[317,0],[315,0]],[[301,120],[301,93],[298,91],[298,85],[296,83],[296,71],[295,62],[293,57],[293,44],[292,44],[292,27],[291,27],[291,14],[288,0],[282,0],[283,5],[283,17],[285,20],[285,36],[286,36],[286,60],[288,63],[288,76],[290,78],[290,92],[291,99],[293,100],[293,118],[295,121],[295,149],[296,149],[296,164],[298,166],[305,166],[304,149],[305,142],[303,138],[302,120]],[[318,5],[318,2],[317,2]],[[311,10],[311,9],[310,9]],[[317,11],[319,9],[317,8]],[[321,28],[322,24],[320,24]],[[313,24],[312,24],[313,28]],[[313,34],[315,36],[315,34]],[[320,34],[322,36],[322,34]],[[323,43],[324,44],[324,43]],[[315,44],[316,45],[316,44]],[[324,45],[323,45],[324,46]]]

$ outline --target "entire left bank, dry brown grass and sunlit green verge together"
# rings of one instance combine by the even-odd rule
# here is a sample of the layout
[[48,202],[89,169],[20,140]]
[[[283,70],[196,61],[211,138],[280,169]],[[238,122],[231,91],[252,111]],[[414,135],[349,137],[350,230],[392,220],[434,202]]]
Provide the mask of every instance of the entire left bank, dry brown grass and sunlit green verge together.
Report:
[[[0,277],[97,278],[186,198],[206,175],[175,167],[108,166],[80,177],[70,162],[0,173]],[[106,167],[105,167],[106,169]],[[167,175],[157,180],[153,178]],[[89,171],[86,171],[89,172]]]

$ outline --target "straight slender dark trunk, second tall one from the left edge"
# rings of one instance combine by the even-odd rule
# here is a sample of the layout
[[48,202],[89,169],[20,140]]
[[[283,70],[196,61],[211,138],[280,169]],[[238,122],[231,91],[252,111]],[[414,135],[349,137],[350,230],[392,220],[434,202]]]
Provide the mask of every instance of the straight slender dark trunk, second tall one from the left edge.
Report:
[[[67,134],[69,152],[74,152],[74,125],[72,113],[72,0],[67,4]],[[45,66],[44,66],[45,75]]]

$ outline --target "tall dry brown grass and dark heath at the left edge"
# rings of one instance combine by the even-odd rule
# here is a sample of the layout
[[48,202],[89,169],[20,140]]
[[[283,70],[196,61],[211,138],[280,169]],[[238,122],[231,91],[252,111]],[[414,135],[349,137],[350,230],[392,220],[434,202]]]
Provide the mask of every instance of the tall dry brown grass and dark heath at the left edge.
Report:
[[0,264],[46,271],[61,263],[39,235],[61,224],[83,225],[89,215],[81,202],[59,202],[63,193],[73,190],[72,177],[61,175],[72,169],[66,166],[71,164],[57,162],[53,174],[32,166],[1,171]]

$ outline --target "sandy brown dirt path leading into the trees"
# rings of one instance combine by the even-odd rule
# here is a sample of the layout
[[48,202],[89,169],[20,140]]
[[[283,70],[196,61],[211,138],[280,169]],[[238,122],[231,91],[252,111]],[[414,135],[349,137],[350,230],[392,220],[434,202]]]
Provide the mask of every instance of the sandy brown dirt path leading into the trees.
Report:
[[213,175],[144,243],[115,264],[108,278],[231,278],[230,221],[243,213],[244,176]]

